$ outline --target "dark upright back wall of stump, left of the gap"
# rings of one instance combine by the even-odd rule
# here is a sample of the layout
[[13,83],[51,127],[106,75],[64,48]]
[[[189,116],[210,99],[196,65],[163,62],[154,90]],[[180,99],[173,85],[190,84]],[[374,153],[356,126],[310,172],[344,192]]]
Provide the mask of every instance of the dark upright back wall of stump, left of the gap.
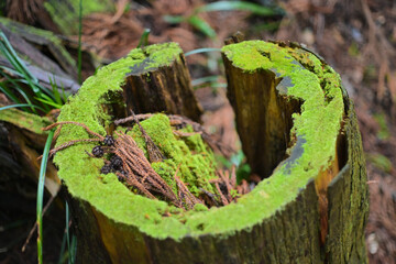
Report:
[[170,64],[152,68],[153,52],[147,50],[143,62],[127,75],[123,90],[128,111],[177,113],[199,121],[202,110],[194,96],[184,54]]

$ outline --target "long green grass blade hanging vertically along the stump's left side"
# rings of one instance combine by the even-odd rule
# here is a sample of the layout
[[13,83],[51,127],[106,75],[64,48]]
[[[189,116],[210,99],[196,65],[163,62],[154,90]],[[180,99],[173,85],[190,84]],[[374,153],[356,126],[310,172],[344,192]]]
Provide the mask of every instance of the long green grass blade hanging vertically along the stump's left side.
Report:
[[40,175],[38,175],[38,185],[37,185],[37,209],[36,209],[36,213],[37,213],[37,230],[38,230],[38,235],[37,235],[37,260],[38,260],[38,264],[43,263],[43,198],[44,198],[44,180],[45,180],[45,172],[46,172],[46,166],[47,166],[47,162],[48,162],[48,154],[50,154],[50,148],[51,148],[51,143],[52,140],[54,138],[54,130],[51,130],[48,133],[48,138],[45,142],[45,146],[44,146],[44,153],[43,153],[43,158],[42,158],[42,163],[40,166]]

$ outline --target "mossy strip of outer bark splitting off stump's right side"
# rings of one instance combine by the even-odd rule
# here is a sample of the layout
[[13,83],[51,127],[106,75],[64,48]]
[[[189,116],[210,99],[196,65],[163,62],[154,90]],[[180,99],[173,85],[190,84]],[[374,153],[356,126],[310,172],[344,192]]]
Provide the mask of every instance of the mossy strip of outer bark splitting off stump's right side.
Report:
[[369,219],[369,188],[362,140],[353,102],[345,99],[344,167],[328,188],[327,263],[367,263],[364,230]]

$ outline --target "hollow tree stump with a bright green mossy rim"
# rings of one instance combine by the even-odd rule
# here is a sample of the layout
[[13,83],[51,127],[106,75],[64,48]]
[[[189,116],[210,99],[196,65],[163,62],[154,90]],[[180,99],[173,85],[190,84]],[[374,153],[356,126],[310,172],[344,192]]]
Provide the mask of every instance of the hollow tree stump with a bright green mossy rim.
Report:
[[[242,42],[222,54],[243,150],[263,180],[237,204],[180,215],[165,201],[130,191],[114,174],[101,175],[103,161],[86,154],[95,144],[59,151],[54,161],[67,189],[78,263],[367,262],[365,163],[353,103],[337,73],[295,44]],[[144,66],[145,76],[156,76],[178,62],[184,65],[176,44],[136,48],[88,78],[58,120],[105,135],[128,108],[139,110],[129,98],[136,97],[129,91],[131,70]],[[139,80],[155,84],[141,75]],[[166,84],[160,92],[172,89]],[[153,109],[172,106],[161,103]],[[65,124],[57,145],[88,136]]]

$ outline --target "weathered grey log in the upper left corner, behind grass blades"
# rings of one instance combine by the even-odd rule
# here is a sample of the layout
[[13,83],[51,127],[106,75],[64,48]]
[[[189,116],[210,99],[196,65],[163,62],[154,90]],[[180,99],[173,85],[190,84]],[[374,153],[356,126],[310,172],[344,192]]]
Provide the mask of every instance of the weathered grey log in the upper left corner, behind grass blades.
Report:
[[[75,94],[79,89],[76,81],[76,62],[64,47],[59,37],[52,32],[24,25],[6,18],[0,18],[0,30],[6,34],[11,46],[16,51],[31,74],[38,79],[43,87],[52,90],[52,84],[56,84],[61,94],[63,89],[69,94]],[[55,62],[43,54],[43,51],[48,51]],[[13,69],[10,62],[2,54],[0,54],[0,65]],[[8,74],[15,79],[20,77],[12,72]]]

